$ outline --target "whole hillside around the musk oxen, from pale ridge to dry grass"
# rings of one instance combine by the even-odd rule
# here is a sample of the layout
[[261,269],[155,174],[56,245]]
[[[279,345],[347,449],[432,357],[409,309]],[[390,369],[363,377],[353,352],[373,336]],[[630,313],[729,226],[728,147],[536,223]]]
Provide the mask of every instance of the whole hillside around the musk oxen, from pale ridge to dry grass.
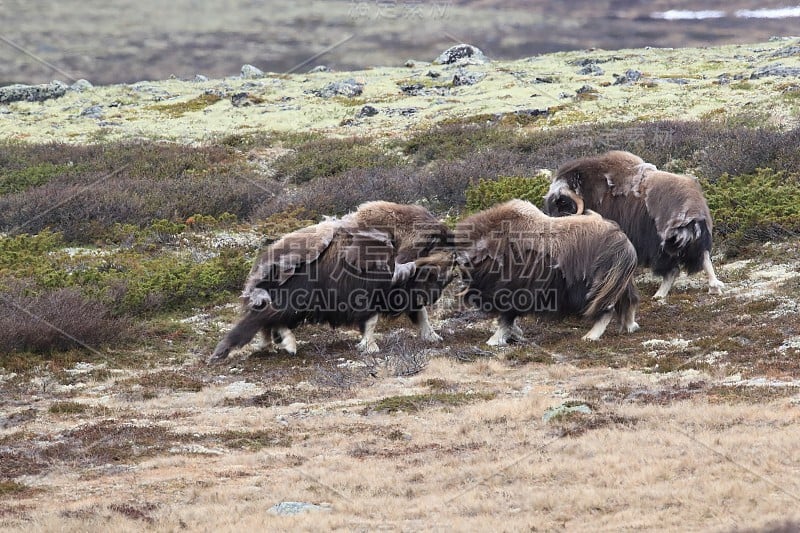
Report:
[[[0,527],[797,527],[797,46],[0,105]],[[640,331],[588,344],[578,319],[528,318],[489,348],[454,284],[438,345],[381,320],[377,356],[304,326],[295,357],[254,341],[204,363],[282,234],[372,199],[448,221],[538,201],[540,169],[609,149],[700,179],[725,294],[682,276],[657,304],[640,272]],[[290,501],[316,507],[270,510]]]

